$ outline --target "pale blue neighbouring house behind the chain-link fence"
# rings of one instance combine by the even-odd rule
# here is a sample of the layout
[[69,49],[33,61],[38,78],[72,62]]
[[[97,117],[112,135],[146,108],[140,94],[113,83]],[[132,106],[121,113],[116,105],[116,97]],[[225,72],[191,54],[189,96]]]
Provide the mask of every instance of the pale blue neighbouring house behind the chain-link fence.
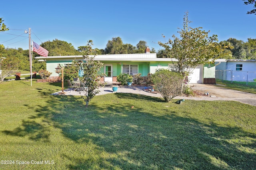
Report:
[[241,82],[253,82],[256,79],[256,60],[226,59],[215,65],[218,79]]

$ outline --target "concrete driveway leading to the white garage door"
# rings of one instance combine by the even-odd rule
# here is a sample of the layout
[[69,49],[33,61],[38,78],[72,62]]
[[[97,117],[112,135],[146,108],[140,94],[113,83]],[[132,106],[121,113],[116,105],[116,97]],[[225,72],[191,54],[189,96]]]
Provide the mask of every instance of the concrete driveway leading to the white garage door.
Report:
[[212,84],[189,84],[193,90],[197,90],[203,93],[209,93],[209,96],[216,96],[223,100],[234,100],[244,104],[256,106],[256,94],[241,92],[237,90],[231,90],[222,88],[220,85]]

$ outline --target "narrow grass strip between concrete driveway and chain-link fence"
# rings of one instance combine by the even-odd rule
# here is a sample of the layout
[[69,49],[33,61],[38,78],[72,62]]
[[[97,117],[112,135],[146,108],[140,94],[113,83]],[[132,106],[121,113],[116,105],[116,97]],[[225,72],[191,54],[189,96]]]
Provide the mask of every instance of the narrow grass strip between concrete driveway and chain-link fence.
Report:
[[256,94],[256,82],[248,82],[250,84],[248,84],[248,86],[246,86],[246,82],[233,82],[231,84],[230,81],[222,82],[221,80],[216,79],[216,83],[225,85],[225,86],[222,86],[223,88],[228,88],[228,89],[239,90],[242,92]]

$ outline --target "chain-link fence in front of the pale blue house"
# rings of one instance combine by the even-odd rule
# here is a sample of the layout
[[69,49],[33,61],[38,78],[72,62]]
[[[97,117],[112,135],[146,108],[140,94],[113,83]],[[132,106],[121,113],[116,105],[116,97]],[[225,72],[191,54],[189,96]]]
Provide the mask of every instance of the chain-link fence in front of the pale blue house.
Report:
[[256,72],[253,71],[215,70],[215,78],[225,83],[256,86]]

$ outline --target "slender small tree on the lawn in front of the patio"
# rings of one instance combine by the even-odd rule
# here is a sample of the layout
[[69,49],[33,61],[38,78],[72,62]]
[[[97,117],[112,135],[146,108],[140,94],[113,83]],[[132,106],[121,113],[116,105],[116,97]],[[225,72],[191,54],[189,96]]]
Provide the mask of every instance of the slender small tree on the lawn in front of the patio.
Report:
[[[80,88],[85,93],[85,96],[82,96],[86,102],[85,107],[88,107],[90,100],[99,92],[97,89],[104,85],[100,83],[100,77],[103,76],[103,74],[98,74],[103,63],[94,60],[96,51],[92,49],[92,40],[87,42],[86,50],[83,51],[85,53],[85,55],[83,55],[85,62],[77,63],[78,68],[82,67],[84,69],[84,76],[82,77]],[[92,53],[94,54],[93,57],[90,56]],[[82,93],[80,92],[80,94]]]

